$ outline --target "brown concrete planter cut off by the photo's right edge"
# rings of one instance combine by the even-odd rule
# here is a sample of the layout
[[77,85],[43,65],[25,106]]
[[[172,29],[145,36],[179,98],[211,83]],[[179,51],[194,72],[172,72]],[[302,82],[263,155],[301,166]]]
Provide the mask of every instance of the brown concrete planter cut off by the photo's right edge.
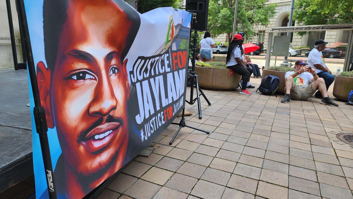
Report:
[[333,96],[347,102],[348,95],[351,90],[353,90],[353,77],[335,77],[335,83],[332,92]]

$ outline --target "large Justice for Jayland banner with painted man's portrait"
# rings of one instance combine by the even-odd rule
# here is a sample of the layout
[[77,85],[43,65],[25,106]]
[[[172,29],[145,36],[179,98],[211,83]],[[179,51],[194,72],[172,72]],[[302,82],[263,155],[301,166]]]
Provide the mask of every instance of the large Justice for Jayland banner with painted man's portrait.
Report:
[[[58,198],[82,198],[185,106],[191,14],[122,0],[25,0]],[[33,116],[36,197],[48,198]]]

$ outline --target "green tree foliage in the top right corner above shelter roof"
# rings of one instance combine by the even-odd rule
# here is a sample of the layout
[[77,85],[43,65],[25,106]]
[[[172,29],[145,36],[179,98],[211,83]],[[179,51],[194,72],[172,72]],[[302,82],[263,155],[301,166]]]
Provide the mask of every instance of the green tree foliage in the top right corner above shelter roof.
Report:
[[298,0],[293,19],[299,25],[323,25],[353,22],[353,0]]

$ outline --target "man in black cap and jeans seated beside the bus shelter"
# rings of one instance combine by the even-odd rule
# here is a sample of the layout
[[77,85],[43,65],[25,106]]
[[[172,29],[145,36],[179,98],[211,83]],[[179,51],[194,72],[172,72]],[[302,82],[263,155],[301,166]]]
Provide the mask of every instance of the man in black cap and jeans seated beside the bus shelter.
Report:
[[[323,39],[318,39],[314,44],[315,48],[312,49],[312,51],[309,53],[307,63],[309,66],[315,69],[315,72],[319,77],[324,79],[327,91],[329,89],[329,86],[335,80],[335,77],[332,75],[332,72],[326,67],[325,59],[322,56],[321,52],[325,49],[325,46],[326,44],[328,44],[328,42],[325,42]],[[322,99],[323,93],[318,91],[316,92],[315,97]]]

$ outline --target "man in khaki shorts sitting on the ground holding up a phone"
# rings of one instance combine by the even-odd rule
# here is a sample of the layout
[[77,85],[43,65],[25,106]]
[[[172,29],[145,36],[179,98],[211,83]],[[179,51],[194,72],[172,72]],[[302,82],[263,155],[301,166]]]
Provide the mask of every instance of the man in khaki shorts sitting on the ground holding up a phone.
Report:
[[294,65],[295,70],[286,72],[286,94],[281,103],[287,103],[291,99],[307,100],[316,90],[319,90],[323,96],[323,99],[320,101],[321,104],[338,106],[327,95],[324,79],[315,73],[315,69],[306,65],[307,63],[304,60],[297,60]]

